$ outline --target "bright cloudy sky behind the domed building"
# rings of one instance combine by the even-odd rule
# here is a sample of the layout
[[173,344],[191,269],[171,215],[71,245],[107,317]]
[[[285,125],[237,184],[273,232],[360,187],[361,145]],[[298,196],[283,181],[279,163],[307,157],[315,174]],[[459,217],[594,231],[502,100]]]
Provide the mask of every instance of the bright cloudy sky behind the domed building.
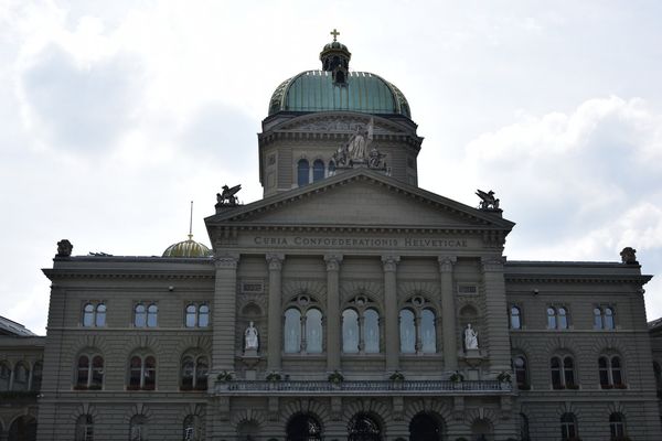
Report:
[[42,268],[160,256],[224,184],[259,200],[273,90],[350,68],[407,96],[419,186],[517,225],[511,260],[620,261],[638,250],[662,316],[662,2],[0,0],[0,315],[45,333]]

